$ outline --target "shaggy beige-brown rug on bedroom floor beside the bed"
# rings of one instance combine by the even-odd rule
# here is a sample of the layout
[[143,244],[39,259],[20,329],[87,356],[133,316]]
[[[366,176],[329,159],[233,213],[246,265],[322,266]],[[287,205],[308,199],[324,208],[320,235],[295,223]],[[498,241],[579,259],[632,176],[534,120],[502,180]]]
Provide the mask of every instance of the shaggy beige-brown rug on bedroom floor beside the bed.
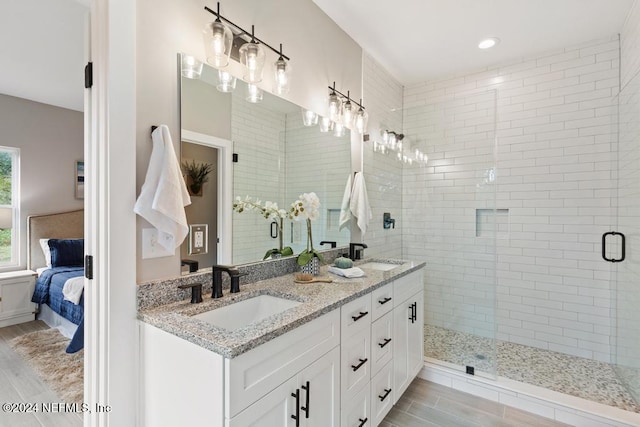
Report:
[[9,346],[67,403],[82,402],[84,350],[67,354],[69,339],[57,329],[31,332],[9,341]]

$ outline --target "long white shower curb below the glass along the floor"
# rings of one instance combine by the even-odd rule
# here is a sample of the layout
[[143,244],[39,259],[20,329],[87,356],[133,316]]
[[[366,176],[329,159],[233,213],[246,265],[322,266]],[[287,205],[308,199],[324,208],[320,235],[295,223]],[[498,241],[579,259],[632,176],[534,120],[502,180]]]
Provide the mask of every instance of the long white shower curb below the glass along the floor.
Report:
[[418,376],[503,405],[577,427],[638,427],[640,414],[508,378],[467,375],[432,360]]

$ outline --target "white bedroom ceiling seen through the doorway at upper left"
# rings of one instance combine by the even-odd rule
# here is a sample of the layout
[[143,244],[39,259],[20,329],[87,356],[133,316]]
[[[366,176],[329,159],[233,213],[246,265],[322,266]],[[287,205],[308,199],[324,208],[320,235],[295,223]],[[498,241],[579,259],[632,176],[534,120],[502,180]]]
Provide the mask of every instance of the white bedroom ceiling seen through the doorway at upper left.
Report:
[[0,1],[0,93],[82,111],[82,2]]

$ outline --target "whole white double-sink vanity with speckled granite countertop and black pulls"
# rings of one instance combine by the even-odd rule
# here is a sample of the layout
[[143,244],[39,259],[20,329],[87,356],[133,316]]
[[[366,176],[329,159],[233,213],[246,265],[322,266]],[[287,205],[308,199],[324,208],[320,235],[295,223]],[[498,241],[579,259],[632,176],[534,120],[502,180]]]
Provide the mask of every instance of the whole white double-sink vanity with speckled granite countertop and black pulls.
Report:
[[140,310],[141,425],[378,425],[423,365],[424,263],[370,266]]

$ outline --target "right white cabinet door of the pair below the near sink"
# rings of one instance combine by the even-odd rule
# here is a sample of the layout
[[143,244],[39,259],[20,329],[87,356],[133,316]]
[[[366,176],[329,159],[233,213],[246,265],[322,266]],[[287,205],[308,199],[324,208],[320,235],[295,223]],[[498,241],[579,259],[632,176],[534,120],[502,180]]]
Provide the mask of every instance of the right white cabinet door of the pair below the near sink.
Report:
[[[298,375],[300,425],[340,425],[340,348],[336,347]],[[273,424],[276,425],[276,424]]]

